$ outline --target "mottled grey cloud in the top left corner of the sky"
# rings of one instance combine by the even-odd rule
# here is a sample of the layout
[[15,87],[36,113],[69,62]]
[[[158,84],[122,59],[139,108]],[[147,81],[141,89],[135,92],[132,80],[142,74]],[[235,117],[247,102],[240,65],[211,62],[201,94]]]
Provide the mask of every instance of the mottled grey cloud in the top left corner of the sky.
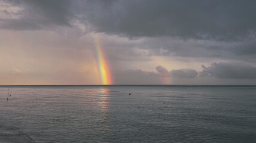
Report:
[[1,29],[40,30],[52,29],[54,26],[71,26],[75,17],[71,13],[71,1],[61,0],[27,0],[4,1],[23,8],[20,18],[0,20]]

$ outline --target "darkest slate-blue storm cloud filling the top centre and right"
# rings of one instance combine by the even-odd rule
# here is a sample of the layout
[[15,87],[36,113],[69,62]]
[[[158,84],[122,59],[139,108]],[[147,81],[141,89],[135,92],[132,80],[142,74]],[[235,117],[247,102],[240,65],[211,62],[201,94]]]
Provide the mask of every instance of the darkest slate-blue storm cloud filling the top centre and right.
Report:
[[129,37],[252,38],[256,1],[89,1],[85,19],[98,32]]

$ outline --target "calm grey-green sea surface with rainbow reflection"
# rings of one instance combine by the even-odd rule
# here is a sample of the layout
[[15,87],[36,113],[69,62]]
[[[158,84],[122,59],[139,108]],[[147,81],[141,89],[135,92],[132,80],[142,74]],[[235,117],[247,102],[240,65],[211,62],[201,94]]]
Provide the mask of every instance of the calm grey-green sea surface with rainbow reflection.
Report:
[[[256,86],[0,87],[0,142],[256,142]],[[131,95],[128,95],[131,93]]]

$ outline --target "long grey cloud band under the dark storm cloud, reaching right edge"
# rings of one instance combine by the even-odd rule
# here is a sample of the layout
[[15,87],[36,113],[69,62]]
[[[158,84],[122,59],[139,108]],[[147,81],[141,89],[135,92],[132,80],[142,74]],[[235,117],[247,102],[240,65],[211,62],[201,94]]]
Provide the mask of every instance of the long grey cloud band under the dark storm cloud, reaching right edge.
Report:
[[[114,41],[115,42],[115,41]],[[119,47],[125,46],[127,51],[133,48],[145,49],[149,51],[148,56],[161,55],[169,57],[192,57],[212,58],[212,60],[256,60],[256,41],[240,42],[221,42],[208,40],[187,40],[183,41],[176,38],[143,38],[143,41],[125,43]]]

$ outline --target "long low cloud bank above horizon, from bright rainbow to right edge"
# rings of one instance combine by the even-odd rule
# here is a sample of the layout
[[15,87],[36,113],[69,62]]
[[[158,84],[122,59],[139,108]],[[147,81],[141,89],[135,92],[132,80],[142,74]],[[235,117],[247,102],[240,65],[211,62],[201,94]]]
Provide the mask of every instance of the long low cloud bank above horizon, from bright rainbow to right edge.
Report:
[[[219,79],[256,79],[256,67],[240,63],[212,63],[206,67],[202,65],[202,71],[194,69],[173,69],[168,71],[165,67],[156,67],[154,71],[143,70],[123,70],[118,71],[116,77],[122,76],[124,80],[136,81],[138,83],[158,84],[159,78],[171,79],[197,79],[202,80],[206,77],[217,77]],[[119,83],[119,79],[117,81]]]

